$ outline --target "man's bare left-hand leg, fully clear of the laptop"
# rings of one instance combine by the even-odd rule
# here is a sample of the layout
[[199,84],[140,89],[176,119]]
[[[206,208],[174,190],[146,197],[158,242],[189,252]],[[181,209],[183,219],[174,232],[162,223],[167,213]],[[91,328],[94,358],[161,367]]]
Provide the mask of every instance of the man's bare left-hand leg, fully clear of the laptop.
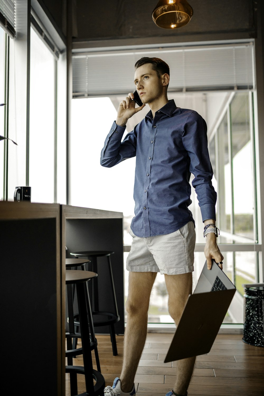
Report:
[[128,297],[125,304],[127,326],[124,337],[121,389],[130,392],[139,359],[146,341],[150,293],[156,272],[129,272]]

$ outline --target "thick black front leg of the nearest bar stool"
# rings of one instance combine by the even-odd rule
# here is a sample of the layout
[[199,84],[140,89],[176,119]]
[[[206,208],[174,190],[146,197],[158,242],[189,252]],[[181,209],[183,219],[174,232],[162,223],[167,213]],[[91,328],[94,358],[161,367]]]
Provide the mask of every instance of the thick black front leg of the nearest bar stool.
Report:
[[[89,337],[89,324],[87,317],[87,305],[85,296],[85,284],[76,284],[78,308],[79,308],[79,319],[82,337],[82,349],[83,349],[83,359],[84,359],[84,375],[85,375],[85,385],[86,392],[90,395],[94,395],[93,386],[93,363],[91,354],[91,344]],[[85,337],[86,335],[86,337]],[[88,335],[88,337],[87,337]]]

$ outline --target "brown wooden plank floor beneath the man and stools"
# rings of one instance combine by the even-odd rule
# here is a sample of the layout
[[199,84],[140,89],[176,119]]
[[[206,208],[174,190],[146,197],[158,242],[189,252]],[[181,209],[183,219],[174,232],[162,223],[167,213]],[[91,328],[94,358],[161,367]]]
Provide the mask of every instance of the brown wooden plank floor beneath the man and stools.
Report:
[[[165,396],[175,383],[177,362],[163,363],[173,334],[148,333],[135,377],[137,395]],[[121,372],[123,336],[117,336],[118,356],[112,355],[110,336],[98,335],[101,371],[106,386]],[[82,356],[75,363],[82,366]],[[96,369],[95,361],[94,368]],[[66,374],[66,396],[70,395]],[[78,375],[78,393],[85,392]],[[247,345],[242,335],[219,334],[207,355],[197,357],[188,396],[264,396],[264,348]]]

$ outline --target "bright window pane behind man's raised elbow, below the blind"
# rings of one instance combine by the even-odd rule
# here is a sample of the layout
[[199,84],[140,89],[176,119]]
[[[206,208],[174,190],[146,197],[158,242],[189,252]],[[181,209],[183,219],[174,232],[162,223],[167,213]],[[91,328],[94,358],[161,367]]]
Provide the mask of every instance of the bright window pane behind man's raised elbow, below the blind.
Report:
[[124,243],[131,244],[135,158],[110,169],[100,165],[104,140],[116,114],[109,97],[72,99],[71,204],[123,212]]

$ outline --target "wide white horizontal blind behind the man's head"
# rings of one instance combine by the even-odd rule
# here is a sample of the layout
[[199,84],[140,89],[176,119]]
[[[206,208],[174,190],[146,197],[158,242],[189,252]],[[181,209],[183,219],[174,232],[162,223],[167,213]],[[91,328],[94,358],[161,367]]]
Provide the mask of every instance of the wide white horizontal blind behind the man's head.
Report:
[[73,55],[73,96],[124,94],[134,89],[134,65],[142,56],[170,67],[169,91],[251,89],[253,44],[108,51]]

